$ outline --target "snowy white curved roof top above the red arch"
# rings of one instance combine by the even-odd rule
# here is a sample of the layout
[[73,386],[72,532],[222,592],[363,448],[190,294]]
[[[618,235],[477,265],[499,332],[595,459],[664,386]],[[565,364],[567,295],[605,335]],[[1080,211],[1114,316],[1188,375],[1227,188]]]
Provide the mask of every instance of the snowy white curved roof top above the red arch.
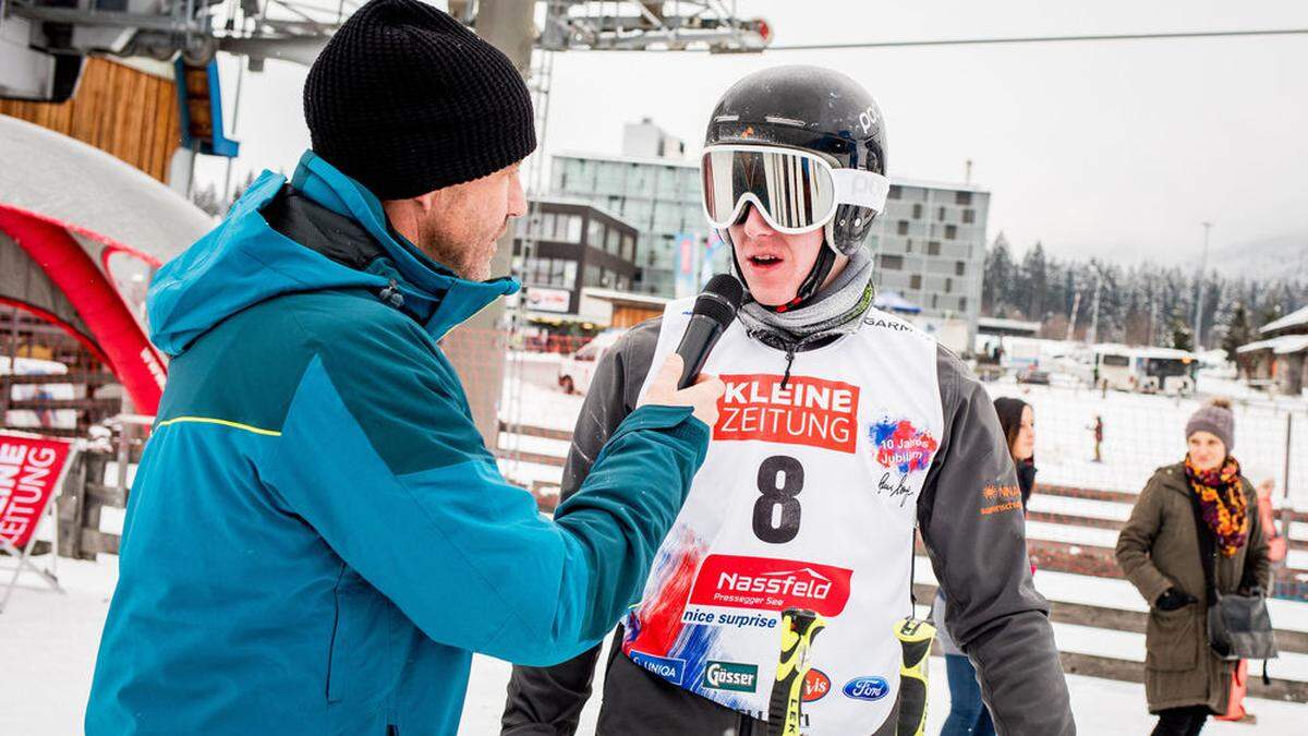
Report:
[[0,115],[0,204],[167,261],[213,228],[184,198],[68,136]]

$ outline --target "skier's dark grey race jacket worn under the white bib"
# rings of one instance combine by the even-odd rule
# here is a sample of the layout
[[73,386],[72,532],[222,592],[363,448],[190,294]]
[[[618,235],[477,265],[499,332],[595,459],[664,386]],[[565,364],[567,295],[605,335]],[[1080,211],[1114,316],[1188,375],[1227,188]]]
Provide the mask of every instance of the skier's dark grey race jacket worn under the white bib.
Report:
[[[600,360],[564,466],[562,498],[577,491],[604,441],[634,410],[659,325],[661,320],[650,320],[632,329]],[[783,360],[781,351],[777,355]],[[1023,517],[981,515],[990,503],[986,486],[1018,485],[994,405],[972,372],[943,347],[937,369],[944,433],[917,513],[937,580],[950,601],[946,625],[976,665],[1001,735],[1075,733],[1049,604],[1031,581]],[[599,652],[595,647],[548,668],[514,667],[502,736],[574,733]],[[764,722],[671,685],[625,656],[611,656],[607,667],[600,736],[768,732]],[[887,723],[893,722],[892,714]]]

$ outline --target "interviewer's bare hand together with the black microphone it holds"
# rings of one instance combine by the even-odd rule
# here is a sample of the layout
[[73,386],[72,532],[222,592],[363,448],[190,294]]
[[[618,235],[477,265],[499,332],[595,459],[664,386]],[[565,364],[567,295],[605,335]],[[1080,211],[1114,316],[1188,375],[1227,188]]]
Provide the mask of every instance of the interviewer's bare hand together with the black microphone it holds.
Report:
[[689,406],[695,418],[713,427],[718,422],[718,398],[726,386],[714,376],[701,376],[704,361],[718,338],[735,320],[743,289],[727,274],[709,280],[695,300],[695,313],[676,352],[667,356],[641,405]]

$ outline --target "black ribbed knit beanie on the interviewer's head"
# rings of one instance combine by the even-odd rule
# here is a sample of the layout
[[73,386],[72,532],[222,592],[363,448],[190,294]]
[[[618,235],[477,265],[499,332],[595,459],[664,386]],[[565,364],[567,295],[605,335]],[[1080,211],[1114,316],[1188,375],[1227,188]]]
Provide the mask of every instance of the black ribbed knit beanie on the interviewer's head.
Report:
[[314,152],[379,199],[492,174],[536,148],[531,94],[498,48],[419,0],[371,0],[305,81]]

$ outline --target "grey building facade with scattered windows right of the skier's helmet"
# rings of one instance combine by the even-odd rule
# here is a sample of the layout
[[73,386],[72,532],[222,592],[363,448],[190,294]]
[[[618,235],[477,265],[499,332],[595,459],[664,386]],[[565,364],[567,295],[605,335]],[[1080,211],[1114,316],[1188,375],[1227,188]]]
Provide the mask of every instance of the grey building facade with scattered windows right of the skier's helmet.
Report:
[[872,225],[878,289],[921,306],[920,322],[967,322],[968,344],[981,316],[989,206],[974,185],[892,178]]

